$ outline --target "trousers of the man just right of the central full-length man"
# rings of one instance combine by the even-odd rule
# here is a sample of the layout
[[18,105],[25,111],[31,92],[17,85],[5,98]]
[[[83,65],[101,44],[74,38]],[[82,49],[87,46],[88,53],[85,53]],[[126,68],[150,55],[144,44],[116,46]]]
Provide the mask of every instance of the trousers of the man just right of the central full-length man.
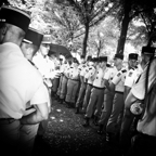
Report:
[[102,114],[99,120],[99,125],[103,125],[104,130],[106,130],[106,125],[112,114],[113,100],[114,100],[114,94],[106,89],[104,95],[104,108],[102,109]]

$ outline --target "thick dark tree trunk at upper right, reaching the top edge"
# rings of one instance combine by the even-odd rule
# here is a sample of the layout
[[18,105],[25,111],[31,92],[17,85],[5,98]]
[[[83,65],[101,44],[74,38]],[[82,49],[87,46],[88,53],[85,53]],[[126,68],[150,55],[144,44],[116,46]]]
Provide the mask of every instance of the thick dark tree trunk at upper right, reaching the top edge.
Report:
[[131,3],[127,0],[125,0],[125,2],[126,2],[125,3],[125,15],[123,15],[122,23],[121,23],[120,37],[118,40],[118,46],[117,46],[117,51],[116,51],[116,53],[120,53],[120,54],[123,54],[128,26],[129,26],[129,22],[130,22],[129,13],[131,11]]

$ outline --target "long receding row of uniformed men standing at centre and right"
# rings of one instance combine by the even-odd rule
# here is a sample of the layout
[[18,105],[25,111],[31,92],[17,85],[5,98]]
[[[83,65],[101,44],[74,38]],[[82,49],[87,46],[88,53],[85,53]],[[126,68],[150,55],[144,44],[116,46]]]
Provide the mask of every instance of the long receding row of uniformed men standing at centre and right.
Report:
[[[142,53],[145,51],[144,47]],[[138,54],[129,54],[128,67],[122,66],[122,60],[123,55],[116,54],[114,67],[106,66],[106,56],[88,60],[79,66],[62,67],[58,101],[63,103],[65,100],[68,107],[76,107],[76,114],[82,104],[86,119],[83,126],[89,126],[93,116],[94,123],[100,126],[99,133],[119,132],[125,99],[143,70],[143,66],[138,64]]]

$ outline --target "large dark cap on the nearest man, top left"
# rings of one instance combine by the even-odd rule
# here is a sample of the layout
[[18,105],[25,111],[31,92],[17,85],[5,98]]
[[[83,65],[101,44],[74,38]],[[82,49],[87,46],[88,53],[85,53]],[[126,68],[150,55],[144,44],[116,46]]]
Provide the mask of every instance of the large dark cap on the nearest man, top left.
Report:
[[3,5],[0,9],[0,23],[14,25],[26,32],[30,23],[30,16],[20,9]]

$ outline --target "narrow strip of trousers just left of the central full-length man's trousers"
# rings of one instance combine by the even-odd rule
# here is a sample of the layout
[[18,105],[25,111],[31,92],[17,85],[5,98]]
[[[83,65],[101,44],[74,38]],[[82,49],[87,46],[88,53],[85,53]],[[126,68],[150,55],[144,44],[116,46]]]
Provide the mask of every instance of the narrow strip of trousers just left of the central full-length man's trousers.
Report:
[[84,99],[83,99],[83,105],[82,105],[82,110],[86,112],[86,108],[89,104],[89,100],[90,100],[90,94],[91,94],[91,89],[92,89],[92,84],[87,84],[87,89],[86,89],[86,93],[84,93]]

